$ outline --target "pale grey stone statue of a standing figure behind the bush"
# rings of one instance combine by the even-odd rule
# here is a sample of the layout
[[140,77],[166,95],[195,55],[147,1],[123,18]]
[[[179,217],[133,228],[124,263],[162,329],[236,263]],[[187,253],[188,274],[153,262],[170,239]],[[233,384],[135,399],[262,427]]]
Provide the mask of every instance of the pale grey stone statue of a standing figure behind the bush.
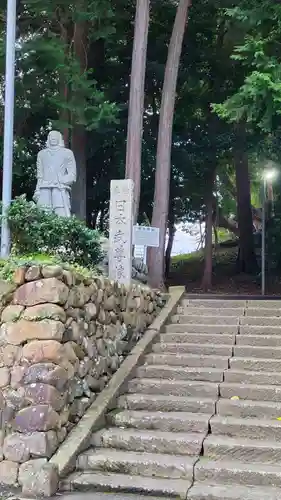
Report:
[[74,154],[65,148],[60,132],[52,130],[46,148],[37,156],[37,185],[34,200],[57,215],[70,217],[71,186],[76,181]]

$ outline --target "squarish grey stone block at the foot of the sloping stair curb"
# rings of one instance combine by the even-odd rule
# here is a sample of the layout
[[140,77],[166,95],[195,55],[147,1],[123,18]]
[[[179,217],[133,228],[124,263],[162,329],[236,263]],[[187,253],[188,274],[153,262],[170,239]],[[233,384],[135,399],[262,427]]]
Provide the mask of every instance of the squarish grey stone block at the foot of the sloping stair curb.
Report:
[[58,489],[59,475],[57,467],[53,464],[34,465],[30,462],[21,476],[22,492],[24,495],[45,496],[54,495]]

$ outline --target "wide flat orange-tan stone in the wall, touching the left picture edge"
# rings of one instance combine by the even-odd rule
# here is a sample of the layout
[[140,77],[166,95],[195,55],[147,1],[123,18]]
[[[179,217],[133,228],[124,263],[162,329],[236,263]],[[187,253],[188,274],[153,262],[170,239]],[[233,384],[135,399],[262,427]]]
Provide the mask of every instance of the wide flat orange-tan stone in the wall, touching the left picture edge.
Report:
[[21,319],[16,323],[4,323],[0,336],[8,344],[21,345],[28,340],[62,340],[64,325],[60,321],[26,321]]

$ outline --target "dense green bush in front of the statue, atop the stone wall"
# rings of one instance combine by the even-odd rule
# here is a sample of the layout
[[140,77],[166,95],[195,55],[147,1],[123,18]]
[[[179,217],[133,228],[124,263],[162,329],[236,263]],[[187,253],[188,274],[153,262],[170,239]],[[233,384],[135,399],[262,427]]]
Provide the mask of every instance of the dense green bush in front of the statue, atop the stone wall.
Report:
[[89,268],[102,258],[100,233],[74,216],[60,217],[21,196],[12,202],[7,220],[18,255],[44,253]]

